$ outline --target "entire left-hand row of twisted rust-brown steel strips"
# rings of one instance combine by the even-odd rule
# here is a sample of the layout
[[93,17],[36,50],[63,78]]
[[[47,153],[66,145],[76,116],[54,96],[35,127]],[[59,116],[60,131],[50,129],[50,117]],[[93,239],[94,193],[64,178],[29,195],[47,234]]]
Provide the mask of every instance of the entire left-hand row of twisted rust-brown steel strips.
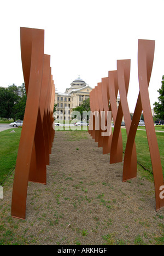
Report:
[[17,153],[11,216],[26,218],[28,181],[46,184],[54,130],[55,86],[50,56],[44,54],[44,30],[21,28],[21,57],[27,102]]

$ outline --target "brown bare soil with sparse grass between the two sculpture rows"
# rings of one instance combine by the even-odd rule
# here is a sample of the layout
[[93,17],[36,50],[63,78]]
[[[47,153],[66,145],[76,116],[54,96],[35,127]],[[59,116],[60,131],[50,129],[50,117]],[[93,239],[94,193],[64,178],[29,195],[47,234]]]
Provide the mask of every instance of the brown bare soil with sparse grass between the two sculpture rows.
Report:
[[123,164],[87,132],[56,132],[47,185],[29,182],[26,220],[10,216],[13,177],[0,200],[0,245],[163,245],[164,209],[154,183],[122,183]]

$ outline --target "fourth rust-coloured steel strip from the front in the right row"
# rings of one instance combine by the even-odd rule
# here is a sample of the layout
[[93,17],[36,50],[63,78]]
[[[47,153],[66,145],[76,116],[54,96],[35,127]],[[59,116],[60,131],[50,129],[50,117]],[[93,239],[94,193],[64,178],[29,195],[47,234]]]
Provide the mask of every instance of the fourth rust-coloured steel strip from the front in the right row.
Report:
[[[108,90],[108,77],[102,78],[102,99],[103,110],[105,112],[105,121],[107,126],[107,112],[109,111],[109,90]],[[103,139],[103,154],[109,154],[112,143],[112,133]]]

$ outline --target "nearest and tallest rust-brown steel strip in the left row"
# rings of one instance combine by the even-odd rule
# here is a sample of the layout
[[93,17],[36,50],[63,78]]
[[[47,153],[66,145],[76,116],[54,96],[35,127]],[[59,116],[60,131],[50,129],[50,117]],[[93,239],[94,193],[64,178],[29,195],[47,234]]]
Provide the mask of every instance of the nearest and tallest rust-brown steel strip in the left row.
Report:
[[[25,82],[27,83],[27,102],[15,167],[11,215],[15,218],[25,219],[28,176],[30,172],[42,85],[44,30],[21,28],[21,39],[22,38],[24,38],[24,40],[21,40],[21,43],[26,44],[28,53],[30,53],[31,49],[31,66],[29,73],[29,68],[25,68],[26,64],[24,63],[22,65],[22,67],[25,68],[23,71],[25,74]],[[21,49],[26,50],[26,46]],[[22,53],[22,55],[27,56],[26,53]],[[24,57],[22,61],[25,60],[26,57]],[[29,63],[30,61],[28,62],[28,65]],[[29,78],[28,75],[30,75]],[[31,120],[31,122],[29,122],[29,120]],[[27,133],[30,136],[27,136]]]

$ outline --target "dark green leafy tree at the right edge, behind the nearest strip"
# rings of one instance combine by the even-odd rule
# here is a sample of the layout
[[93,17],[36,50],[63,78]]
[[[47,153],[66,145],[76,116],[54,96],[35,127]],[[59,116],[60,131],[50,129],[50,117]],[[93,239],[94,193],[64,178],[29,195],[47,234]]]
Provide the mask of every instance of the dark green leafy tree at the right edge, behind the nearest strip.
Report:
[[158,97],[159,102],[154,103],[154,112],[157,119],[164,119],[164,75],[162,76],[161,88],[157,91],[160,96]]

